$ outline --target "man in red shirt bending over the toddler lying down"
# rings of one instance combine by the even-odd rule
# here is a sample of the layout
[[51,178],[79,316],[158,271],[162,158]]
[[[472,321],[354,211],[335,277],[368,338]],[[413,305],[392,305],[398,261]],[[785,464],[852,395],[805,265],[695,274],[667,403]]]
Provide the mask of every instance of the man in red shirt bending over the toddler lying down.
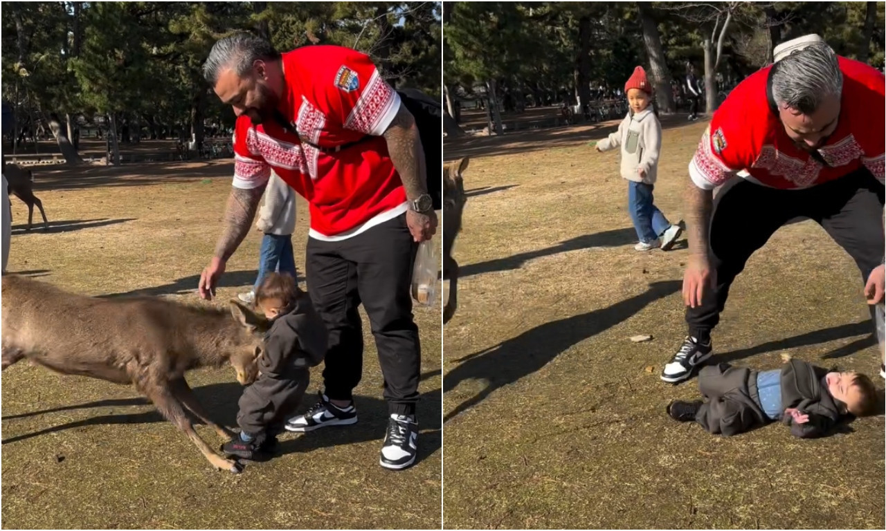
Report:
[[775,61],[727,97],[689,165],[689,335],[664,381],[711,357],[729,286],[789,219],[818,222],[858,264],[872,312],[883,300],[883,74],[818,35],[776,47]]

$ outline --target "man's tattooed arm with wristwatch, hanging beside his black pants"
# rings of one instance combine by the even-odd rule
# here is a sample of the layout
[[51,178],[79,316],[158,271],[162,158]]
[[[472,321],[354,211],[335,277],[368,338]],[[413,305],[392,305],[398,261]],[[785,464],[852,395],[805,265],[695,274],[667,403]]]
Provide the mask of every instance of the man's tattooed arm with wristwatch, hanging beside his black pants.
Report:
[[[428,193],[427,167],[424,164],[422,139],[418,135],[416,119],[406,105],[400,104],[397,115],[385,129],[385,141],[393,167],[400,174],[406,197],[414,201]],[[433,211],[415,212],[411,208],[406,214],[409,232],[416,242],[430,240],[437,231],[437,214]]]

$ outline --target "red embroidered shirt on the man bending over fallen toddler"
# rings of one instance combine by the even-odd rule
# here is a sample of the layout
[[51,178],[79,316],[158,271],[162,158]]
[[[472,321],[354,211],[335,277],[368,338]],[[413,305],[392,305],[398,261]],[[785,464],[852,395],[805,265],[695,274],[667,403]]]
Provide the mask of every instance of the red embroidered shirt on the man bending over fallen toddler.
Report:
[[818,151],[822,165],[797,148],[766,97],[767,66],[751,74],[714,112],[689,175],[701,189],[713,189],[738,174],[776,189],[803,189],[867,167],[883,182],[886,151],[886,94],[883,74],[859,61],[838,58],[843,72],[840,118]]

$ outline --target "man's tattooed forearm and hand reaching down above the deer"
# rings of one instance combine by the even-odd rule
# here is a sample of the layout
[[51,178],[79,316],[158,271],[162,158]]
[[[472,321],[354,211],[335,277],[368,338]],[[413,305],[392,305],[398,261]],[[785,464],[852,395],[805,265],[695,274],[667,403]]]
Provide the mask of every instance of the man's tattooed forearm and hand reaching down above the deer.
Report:
[[224,213],[224,230],[215,244],[215,255],[200,274],[198,291],[202,298],[212,300],[215,295],[215,285],[224,273],[228,259],[249,233],[266,186],[262,184],[253,189],[231,189]]

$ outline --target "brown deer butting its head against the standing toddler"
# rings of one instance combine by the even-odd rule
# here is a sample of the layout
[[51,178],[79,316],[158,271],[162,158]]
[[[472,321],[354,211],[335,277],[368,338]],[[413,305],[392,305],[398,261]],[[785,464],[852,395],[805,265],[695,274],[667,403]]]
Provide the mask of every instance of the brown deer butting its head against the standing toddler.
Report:
[[239,472],[194,431],[187,411],[222,438],[232,436],[209,419],[184,373],[230,364],[237,381],[252,383],[263,317],[236,301],[221,310],[148,296],[105,300],[16,275],[4,276],[2,287],[3,370],[27,358],[58,373],[135,384],[213,466]]

